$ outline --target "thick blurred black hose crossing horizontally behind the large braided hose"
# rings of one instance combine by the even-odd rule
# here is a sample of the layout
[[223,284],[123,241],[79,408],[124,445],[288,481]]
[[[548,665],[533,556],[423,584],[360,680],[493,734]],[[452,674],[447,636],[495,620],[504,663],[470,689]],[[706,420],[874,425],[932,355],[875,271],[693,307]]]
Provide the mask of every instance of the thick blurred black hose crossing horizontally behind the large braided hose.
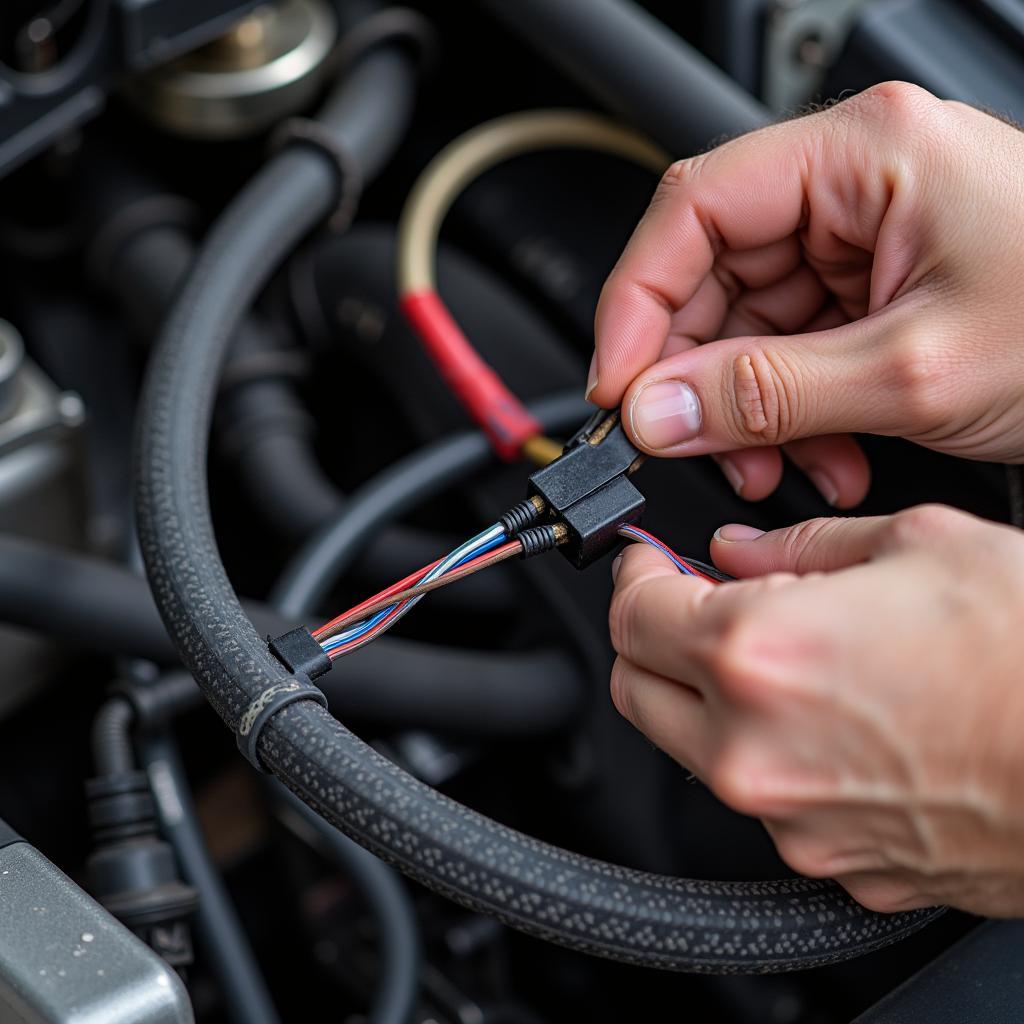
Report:
[[[260,636],[294,625],[265,604],[246,602],[245,611]],[[165,666],[179,660],[144,580],[37,541],[0,537],[0,621],[102,653]],[[341,717],[489,739],[559,732],[584,696],[580,668],[559,650],[495,653],[390,637],[319,682]]]

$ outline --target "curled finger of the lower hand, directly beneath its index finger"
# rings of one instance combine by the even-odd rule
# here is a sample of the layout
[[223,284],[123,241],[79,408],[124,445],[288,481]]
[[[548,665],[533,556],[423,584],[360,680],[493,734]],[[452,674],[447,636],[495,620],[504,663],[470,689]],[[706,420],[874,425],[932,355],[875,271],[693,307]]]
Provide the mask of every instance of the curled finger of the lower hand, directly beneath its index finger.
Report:
[[655,746],[695,774],[705,774],[711,730],[699,694],[618,657],[611,670],[611,699]]

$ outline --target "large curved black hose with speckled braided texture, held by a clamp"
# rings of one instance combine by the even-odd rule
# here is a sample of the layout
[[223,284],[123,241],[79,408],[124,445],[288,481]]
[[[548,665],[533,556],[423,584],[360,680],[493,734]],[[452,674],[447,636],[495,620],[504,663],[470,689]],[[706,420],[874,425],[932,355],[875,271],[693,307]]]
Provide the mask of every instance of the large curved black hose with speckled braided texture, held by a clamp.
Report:
[[[374,138],[395,127],[389,97],[410,74],[399,54],[372,53],[325,117],[368,175],[381,151],[371,154],[358,126],[373,125]],[[247,620],[214,543],[206,455],[217,375],[232,330],[327,213],[331,195],[331,169],[315,153],[286,151],[257,175],[211,230],[142,395],[136,503],[147,575],[185,664],[232,729],[288,677]],[[872,913],[828,882],[690,881],[579,856],[424,785],[308,701],[270,720],[259,755],[307,804],[435,891],[540,938],[628,963],[716,973],[809,968],[888,945],[937,912]]]

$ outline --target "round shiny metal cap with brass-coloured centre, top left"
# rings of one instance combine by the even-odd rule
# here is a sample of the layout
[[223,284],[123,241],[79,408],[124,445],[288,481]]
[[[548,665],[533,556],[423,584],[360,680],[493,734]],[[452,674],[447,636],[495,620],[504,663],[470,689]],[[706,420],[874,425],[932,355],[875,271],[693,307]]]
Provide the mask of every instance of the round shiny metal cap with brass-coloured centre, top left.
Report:
[[135,79],[130,94],[169,131],[255,134],[315,95],[335,37],[324,0],[262,5],[219,39]]

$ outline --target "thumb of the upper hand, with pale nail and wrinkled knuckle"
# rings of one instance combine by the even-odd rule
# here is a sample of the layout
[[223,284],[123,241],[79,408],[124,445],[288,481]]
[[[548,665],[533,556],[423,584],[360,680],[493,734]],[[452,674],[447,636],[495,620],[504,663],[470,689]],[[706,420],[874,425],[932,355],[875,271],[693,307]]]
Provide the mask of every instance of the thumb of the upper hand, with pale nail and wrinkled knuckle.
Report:
[[679,352],[630,386],[627,430],[658,456],[901,432],[904,382],[894,353],[912,346],[902,344],[894,321],[883,313],[829,331],[728,338]]

